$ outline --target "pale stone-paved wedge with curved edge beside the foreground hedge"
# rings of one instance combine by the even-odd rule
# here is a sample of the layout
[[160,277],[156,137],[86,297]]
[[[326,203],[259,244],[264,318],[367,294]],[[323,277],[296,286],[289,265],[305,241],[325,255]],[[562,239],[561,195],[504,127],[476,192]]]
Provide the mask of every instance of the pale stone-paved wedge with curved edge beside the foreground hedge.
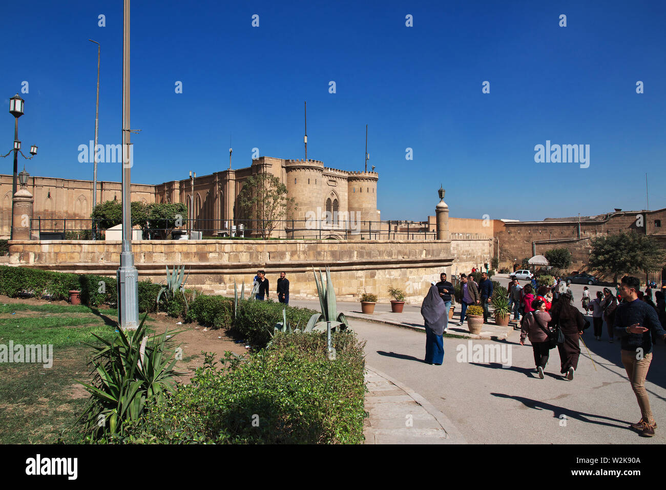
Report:
[[366,383],[366,444],[467,443],[444,413],[397,379],[366,365]]

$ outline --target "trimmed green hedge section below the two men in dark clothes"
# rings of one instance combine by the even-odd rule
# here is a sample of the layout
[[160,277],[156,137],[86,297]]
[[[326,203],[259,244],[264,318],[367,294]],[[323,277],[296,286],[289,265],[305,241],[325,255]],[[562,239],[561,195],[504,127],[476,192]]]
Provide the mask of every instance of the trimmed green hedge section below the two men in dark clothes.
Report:
[[250,345],[265,347],[270,341],[273,327],[282,321],[282,309],[286,309],[287,321],[293,329],[304,328],[315,310],[287,306],[272,299],[266,301],[245,300],[238,305],[238,315],[233,322],[233,331]]

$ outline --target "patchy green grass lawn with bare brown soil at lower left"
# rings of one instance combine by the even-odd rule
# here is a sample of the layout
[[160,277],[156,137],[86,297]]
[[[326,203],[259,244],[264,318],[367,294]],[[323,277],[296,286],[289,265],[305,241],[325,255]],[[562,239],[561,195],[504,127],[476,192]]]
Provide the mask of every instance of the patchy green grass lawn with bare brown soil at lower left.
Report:
[[111,337],[117,310],[0,303],[0,344],[52,344],[53,366],[0,363],[0,443],[77,442],[69,429],[87,404],[93,333]]

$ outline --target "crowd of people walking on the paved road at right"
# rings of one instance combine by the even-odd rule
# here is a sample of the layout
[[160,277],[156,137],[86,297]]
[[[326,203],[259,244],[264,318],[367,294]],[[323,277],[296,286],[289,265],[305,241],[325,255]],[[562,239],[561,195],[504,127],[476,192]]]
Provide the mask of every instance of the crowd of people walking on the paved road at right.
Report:
[[[439,283],[432,283],[421,306],[426,327],[425,362],[431,365],[442,365],[444,361],[443,337],[448,326],[451,295],[454,293],[454,287],[446,280],[445,273],[442,273],[440,279]],[[514,319],[520,320],[522,315],[519,343],[525,345],[525,339],[529,339],[539,379],[545,378],[550,350],[557,347],[560,373],[572,381],[581,352],[579,340],[590,322],[575,306],[570,283],[556,281],[552,287],[541,285],[535,291],[533,285],[521,286],[512,277],[509,301],[513,306]],[[493,292],[488,275],[484,273],[481,283],[477,285],[472,274],[463,274],[461,283],[462,305],[458,325],[462,325],[467,307],[472,304],[484,305],[486,321],[486,305],[490,303]],[[657,423],[645,390],[645,377],[652,361],[655,340],[659,338],[666,341],[666,330],[663,327],[666,320],[666,296],[663,291],[657,291],[655,304],[651,293],[640,291],[640,281],[633,276],[623,277],[616,292],[613,295],[610,289],[604,288],[596,293],[595,299],[591,299],[586,286],[581,304],[585,313],[592,311],[595,339],[601,340],[604,320],[609,341],[613,342],[615,337],[620,339],[621,362],[641,410],[641,419],[631,424],[631,427],[649,437],[655,434]]]

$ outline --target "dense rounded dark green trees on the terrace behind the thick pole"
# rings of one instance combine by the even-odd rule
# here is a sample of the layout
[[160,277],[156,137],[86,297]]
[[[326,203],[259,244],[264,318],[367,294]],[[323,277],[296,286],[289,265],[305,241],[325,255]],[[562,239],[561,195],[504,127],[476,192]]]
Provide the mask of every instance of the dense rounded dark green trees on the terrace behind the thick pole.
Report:
[[[187,207],[183,203],[151,203],[133,201],[131,205],[132,227],[139,225],[147,239],[166,239],[174,228],[187,222]],[[91,218],[101,229],[109,229],[123,223],[123,203],[105,201],[93,208]]]

